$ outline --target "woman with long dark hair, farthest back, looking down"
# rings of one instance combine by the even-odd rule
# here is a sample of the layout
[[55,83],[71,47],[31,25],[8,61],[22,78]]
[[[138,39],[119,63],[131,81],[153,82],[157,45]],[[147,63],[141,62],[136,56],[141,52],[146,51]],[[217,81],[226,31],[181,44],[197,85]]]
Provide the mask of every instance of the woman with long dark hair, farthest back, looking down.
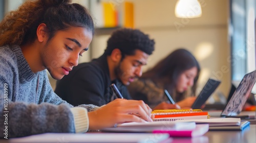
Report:
[[196,100],[199,73],[200,66],[196,58],[189,51],[178,49],[143,73],[128,89],[133,99],[143,100],[152,109],[169,108],[164,89],[180,108],[189,108]]

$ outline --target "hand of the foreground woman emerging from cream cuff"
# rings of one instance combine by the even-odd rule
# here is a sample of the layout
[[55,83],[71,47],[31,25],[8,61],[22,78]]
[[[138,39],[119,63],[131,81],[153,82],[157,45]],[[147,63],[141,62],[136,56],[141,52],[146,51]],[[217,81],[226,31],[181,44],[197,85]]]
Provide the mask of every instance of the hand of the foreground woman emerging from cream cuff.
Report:
[[116,99],[95,111],[88,112],[89,129],[114,127],[116,123],[152,122],[151,112],[152,109],[143,101]]

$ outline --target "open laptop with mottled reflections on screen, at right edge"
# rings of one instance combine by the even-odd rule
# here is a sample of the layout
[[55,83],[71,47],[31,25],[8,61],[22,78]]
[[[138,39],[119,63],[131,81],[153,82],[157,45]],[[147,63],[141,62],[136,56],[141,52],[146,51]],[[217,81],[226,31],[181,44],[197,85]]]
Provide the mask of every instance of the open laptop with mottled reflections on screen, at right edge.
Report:
[[256,81],[256,70],[252,71],[249,74],[246,74],[231,98],[228,100],[225,108],[219,114],[218,111],[208,112],[210,116],[222,116],[222,117],[240,117],[240,118],[249,118],[249,115],[241,115],[243,106],[248,99],[252,87]]

